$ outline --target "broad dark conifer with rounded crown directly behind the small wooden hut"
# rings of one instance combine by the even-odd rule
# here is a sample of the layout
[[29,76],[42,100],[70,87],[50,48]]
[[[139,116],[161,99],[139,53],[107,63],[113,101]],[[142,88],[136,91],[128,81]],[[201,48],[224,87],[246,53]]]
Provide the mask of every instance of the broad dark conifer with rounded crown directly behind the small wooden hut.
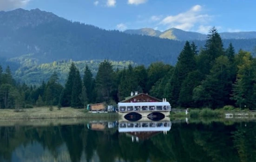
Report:
[[96,75],[96,92],[98,102],[108,102],[114,91],[114,71],[109,61],[104,60],[99,64]]

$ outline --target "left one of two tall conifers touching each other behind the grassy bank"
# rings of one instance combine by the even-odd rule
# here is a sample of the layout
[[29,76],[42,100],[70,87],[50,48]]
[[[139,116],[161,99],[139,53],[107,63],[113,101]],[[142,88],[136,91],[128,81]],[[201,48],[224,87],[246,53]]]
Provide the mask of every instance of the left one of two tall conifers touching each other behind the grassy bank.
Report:
[[74,84],[74,78],[76,76],[76,71],[77,71],[77,67],[72,62],[69,68],[69,73],[68,73],[68,78],[65,84],[63,98],[61,99],[61,105],[64,107],[71,106],[72,88]]

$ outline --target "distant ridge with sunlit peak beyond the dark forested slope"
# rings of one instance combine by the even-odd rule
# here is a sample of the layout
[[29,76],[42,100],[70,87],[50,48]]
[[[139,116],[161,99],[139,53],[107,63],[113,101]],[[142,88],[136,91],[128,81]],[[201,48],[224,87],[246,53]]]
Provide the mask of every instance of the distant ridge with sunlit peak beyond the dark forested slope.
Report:
[[[199,32],[187,32],[177,28],[171,28],[164,32],[152,28],[129,29],[125,30],[128,34],[147,35],[163,39],[174,40],[206,40],[207,34]],[[255,39],[256,32],[220,32],[222,39]]]

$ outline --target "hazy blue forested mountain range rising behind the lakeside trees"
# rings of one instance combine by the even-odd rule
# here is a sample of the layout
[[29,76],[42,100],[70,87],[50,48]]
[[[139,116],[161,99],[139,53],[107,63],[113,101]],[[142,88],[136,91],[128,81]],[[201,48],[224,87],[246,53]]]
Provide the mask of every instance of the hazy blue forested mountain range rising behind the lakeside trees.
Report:
[[[172,28],[165,32],[153,29],[141,30],[144,35],[110,31],[92,25],[72,22],[39,9],[16,9],[0,12],[0,64],[12,65],[15,70],[24,65],[26,57],[37,65],[61,60],[130,60],[149,65],[163,61],[175,65],[183,49],[184,40],[196,38],[202,48],[206,35]],[[152,35],[152,36],[148,36]],[[169,39],[160,39],[169,38]],[[228,37],[228,36],[227,36]],[[241,36],[239,36],[241,37]],[[178,39],[178,40],[171,40]],[[252,51],[256,39],[224,39],[226,48],[230,42],[239,49]],[[28,65],[29,66],[29,65]]]

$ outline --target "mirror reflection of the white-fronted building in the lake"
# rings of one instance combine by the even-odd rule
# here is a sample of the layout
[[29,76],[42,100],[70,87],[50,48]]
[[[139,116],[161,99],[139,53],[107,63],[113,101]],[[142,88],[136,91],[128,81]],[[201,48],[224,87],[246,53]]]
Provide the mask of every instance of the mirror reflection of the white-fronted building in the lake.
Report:
[[118,132],[126,133],[131,136],[132,142],[136,140],[146,140],[151,136],[155,136],[161,132],[167,134],[171,130],[171,121],[158,122],[120,122],[118,124]]

